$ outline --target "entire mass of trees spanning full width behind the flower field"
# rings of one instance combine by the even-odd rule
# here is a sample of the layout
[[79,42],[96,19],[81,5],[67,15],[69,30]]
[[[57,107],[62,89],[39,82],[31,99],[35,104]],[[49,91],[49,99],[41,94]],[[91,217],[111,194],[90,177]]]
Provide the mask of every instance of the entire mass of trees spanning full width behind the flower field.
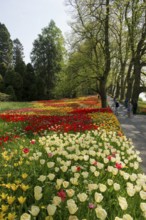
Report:
[[65,40],[54,21],[33,43],[31,63],[23,46],[0,24],[0,92],[13,100],[99,94],[132,99],[146,91],[146,1],[66,0],[72,32]]

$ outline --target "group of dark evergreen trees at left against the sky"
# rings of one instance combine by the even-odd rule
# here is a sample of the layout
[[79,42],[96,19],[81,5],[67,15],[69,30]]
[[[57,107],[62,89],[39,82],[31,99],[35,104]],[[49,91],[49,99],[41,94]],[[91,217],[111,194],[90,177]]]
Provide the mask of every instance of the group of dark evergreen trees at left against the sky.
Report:
[[64,39],[52,20],[33,43],[32,63],[25,64],[19,39],[0,23],[0,92],[13,101],[53,98],[52,89],[64,59]]

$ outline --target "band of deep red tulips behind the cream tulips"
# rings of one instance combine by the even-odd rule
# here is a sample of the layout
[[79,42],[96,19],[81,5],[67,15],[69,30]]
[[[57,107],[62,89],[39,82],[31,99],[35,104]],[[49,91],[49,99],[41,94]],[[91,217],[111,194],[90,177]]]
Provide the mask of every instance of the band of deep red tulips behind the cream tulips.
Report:
[[4,114],[0,115],[0,118],[7,122],[26,122],[27,125],[26,123],[23,124],[23,129],[26,132],[39,132],[43,130],[77,132],[97,129],[89,115],[89,113],[94,112],[112,113],[112,110],[110,108],[88,108],[75,109],[64,116]]

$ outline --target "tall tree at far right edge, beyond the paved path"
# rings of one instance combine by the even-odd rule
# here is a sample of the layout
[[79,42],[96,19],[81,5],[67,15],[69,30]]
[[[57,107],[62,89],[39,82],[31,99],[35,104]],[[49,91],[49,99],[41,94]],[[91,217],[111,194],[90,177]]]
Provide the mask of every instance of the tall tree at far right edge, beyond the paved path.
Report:
[[130,39],[131,49],[131,75],[128,74],[128,90],[127,98],[132,98],[137,103],[140,84],[141,72],[143,65],[143,56],[146,52],[145,39],[146,39],[146,9],[145,0],[126,3],[126,24],[128,28],[128,35]]

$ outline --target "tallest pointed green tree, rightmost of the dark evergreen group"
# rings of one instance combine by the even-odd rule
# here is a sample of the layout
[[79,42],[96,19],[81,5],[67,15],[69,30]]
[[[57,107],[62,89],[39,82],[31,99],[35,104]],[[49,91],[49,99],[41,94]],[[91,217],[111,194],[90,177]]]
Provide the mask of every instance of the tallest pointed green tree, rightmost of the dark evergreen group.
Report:
[[33,43],[31,61],[37,77],[41,78],[44,84],[44,98],[52,97],[52,89],[55,84],[55,76],[61,70],[63,61],[64,39],[60,29],[53,20],[48,27],[42,30]]

